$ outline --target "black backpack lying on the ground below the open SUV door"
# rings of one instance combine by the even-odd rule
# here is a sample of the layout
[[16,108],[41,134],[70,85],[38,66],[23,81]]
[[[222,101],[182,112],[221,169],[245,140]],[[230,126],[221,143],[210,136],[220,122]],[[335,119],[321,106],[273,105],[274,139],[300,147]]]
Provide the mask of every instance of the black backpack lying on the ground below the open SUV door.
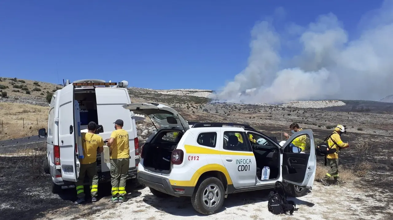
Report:
[[286,200],[284,185],[277,181],[274,185],[274,191],[269,193],[268,210],[274,215],[280,215],[289,212],[290,215],[297,211],[296,204],[291,200]]

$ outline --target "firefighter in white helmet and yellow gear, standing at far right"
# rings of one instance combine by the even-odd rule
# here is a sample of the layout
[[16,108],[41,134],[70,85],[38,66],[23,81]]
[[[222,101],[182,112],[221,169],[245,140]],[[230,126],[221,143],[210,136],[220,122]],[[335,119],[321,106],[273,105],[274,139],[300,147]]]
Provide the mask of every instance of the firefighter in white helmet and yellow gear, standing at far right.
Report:
[[326,176],[321,179],[321,183],[323,185],[329,186],[327,182],[331,177],[334,178],[334,184],[337,184],[338,178],[338,151],[340,148],[349,147],[348,143],[344,143],[341,140],[342,133],[346,133],[345,127],[343,125],[337,125],[334,128],[334,132],[332,135],[327,139],[327,143],[329,144],[329,148],[336,149],[335,153],[328,154],[326,156],[327,160],[329,161],[330,171],[326,173]]

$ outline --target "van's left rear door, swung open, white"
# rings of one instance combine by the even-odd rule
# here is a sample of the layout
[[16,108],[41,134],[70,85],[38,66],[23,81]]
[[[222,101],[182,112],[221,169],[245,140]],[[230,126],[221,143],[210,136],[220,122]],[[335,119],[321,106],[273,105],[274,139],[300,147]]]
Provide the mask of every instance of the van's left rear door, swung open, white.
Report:
[[61,177],[77,181],[75,158],[74,87],[69,84],[61,89],[59,96],[59,148]]

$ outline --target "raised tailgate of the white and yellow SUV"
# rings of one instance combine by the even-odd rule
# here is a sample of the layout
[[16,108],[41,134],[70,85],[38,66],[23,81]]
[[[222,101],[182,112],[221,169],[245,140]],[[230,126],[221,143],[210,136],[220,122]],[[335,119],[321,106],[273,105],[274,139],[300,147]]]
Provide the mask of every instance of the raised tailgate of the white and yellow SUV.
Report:
[[187,121],[173,108],[157,103],[132,103],[123,105],[134,113],[148,115],[151,120],[160,125],[160,129],[181,128],[187,131],[190,127]]

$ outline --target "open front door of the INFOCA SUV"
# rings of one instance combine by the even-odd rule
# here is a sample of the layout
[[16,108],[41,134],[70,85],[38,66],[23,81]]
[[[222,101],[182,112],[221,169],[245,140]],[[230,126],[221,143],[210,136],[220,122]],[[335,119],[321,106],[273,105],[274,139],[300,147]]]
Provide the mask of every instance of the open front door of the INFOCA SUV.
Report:
[[[299,136],[306,135],[310,140],[310,149],[300,153],[293,147],[292,141]],[[308,152],[309,151],[309,152]],[[298,131],[283,145],[283,182],[312,189],[316,171],[316,155],[314,136],[311,129]]]

